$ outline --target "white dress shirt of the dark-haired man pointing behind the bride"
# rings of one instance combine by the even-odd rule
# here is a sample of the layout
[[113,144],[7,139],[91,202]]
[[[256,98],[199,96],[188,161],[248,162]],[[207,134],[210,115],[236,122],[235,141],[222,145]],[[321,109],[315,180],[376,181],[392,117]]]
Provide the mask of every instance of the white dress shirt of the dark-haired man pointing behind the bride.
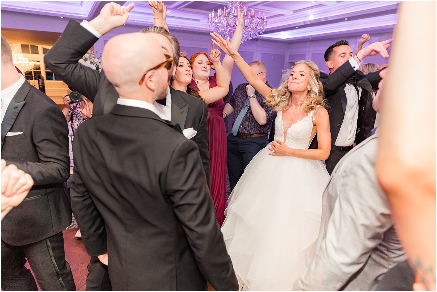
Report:
[[[358,70],[358,63],[354,58],[349,59],[349,63],[355,71]],[[357,90],[354,85],[349,83],[344,87],[346,92],[346,111],[344,112],[343,123],[338,132],[337,139],[334,145],[339,147],[351,146],[355,141],[355,134],[357,132],[357,120],[358,120],[358,101],[361,97],[361,87],[358,87],[359,94],[357,96]]]

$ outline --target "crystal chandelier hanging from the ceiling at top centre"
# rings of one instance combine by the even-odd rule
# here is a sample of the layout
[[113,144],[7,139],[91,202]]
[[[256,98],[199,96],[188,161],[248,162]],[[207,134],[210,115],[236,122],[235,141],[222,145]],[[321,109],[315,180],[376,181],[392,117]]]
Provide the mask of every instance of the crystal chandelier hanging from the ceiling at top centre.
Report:
[[219,8],[217,13],[212,10],[209,13],[208,24],[211,31],[218,33],[225,39],[231,39],[237,27],[238,6],[241,13],[244,14],[243,38],[241,39],[241,43],[243,43],[262,34],[267,25],[264,13],[261,16],[261,12],[259,12],[256,16],[253,9],[251,12],[247,12],[247,2],[229,1],[228,7]]

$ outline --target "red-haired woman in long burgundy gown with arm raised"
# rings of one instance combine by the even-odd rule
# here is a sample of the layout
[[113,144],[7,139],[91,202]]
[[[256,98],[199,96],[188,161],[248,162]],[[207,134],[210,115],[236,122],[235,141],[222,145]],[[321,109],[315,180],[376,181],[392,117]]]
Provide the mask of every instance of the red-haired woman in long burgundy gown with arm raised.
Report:
[[[231,40],[232,46],[236,46],[237,50],[243,36],[243,14],[238,11],[238,25]],[[235,48],[235,47],[234,47]],[[193,69],[193,80],[191,87],[195,90],[203,91],[217,86],[216,74],[211,74],[211,61],[205,52],[195,53],[190,58],[190,63]],[[225,70],[228,84],[231,80],[232,67],[234,61],[230,56],[225,56],[222,61],[223,69]],[[226,202],[226,128],[223,120],[223,108],[225,106],[226,94],[223,94],[216,101],[208,104],[208,112],[210,114],[206,128],[209,134],[209,158],[211,159],[211,195],[214,202],[217,221],[222,226],[225,219],[225,202]]]

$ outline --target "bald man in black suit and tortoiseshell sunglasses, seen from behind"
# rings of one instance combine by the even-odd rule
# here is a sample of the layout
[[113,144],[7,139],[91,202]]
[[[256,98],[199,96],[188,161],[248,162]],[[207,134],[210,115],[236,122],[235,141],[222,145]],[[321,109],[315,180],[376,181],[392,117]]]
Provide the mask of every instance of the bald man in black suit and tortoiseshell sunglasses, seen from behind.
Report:
[[105,45],[119,98],[76,130],[73,212],[115,291],[237,290],[198,147],[153,105],[166,97],[172,59],[150,34]]

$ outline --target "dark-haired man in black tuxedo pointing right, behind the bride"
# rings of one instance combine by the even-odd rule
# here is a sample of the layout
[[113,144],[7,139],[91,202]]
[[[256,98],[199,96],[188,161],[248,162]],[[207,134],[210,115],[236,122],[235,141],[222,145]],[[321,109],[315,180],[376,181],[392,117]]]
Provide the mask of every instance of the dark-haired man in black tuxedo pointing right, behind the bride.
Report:
[[[374,128],[376,111],[372,108],[373,89],[378,87],[381,80],[381,70],[365,76],[357,73],[357,70],[366,56],[380,53],[387,58],[391,41],[374,42],[354,55],[349,42],[343,39],[329,46],[325,52],[330,74],[321,74],[320,81],[329,106],[331,153],[325,160],[329,174],[354,143],[361,143]],[[313,139],[309,148],[317,147],[317,139]]]

